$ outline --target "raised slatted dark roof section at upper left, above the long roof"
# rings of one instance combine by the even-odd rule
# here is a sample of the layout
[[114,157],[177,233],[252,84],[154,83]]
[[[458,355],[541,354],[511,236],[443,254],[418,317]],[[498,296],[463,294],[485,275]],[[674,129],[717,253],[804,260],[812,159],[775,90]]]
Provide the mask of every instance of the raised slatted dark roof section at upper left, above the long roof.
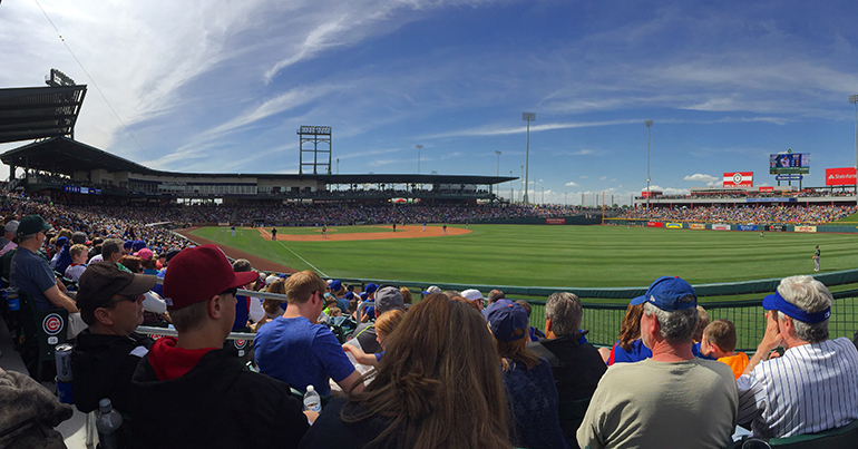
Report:
[[71,136],[86,85],[0,89],[0,144]]

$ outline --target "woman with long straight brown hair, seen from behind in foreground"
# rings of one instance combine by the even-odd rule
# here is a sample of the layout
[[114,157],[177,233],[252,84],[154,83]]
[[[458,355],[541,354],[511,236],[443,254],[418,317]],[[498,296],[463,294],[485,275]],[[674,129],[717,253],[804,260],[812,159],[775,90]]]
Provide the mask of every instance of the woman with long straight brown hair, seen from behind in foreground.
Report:
[[301,448],[511,448],[497,352],[479,312],[431,294],[384,345],[376,380],[328,404]]

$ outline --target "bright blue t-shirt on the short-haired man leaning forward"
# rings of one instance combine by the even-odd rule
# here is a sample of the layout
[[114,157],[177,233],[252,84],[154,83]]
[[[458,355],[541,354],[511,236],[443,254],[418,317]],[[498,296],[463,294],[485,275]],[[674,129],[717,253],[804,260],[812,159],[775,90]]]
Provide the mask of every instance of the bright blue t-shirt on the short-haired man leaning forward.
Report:
[[260,371],[301,391],[312,384],[321,396],[331,396],[329,378],[341,382],[354,372],[331,330],[303,316],[260,326],[253,350]]

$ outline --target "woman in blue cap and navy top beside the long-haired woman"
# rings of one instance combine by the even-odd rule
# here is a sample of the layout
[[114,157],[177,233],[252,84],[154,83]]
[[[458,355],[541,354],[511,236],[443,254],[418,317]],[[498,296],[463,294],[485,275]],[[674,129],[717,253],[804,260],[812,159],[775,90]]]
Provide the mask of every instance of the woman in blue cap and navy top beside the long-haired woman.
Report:
[[500,371],[513,421],[509,437],[517,447],[569,449],[560,429],[560,399],[548,361],[527,349],[527,312],[509,300],[498,300],[486,313],[495,336]]

